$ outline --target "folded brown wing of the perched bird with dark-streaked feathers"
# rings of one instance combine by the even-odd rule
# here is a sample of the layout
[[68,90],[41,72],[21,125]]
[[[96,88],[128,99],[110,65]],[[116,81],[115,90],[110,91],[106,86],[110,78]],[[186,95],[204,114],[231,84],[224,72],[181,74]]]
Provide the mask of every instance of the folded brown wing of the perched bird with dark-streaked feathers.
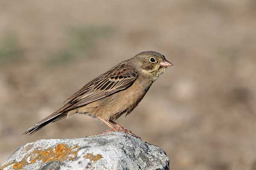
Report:
[[137,77],[138,73],[133,67],[120,63],[70,96],[59,111],[69,111],[124,90],[130,87]]

